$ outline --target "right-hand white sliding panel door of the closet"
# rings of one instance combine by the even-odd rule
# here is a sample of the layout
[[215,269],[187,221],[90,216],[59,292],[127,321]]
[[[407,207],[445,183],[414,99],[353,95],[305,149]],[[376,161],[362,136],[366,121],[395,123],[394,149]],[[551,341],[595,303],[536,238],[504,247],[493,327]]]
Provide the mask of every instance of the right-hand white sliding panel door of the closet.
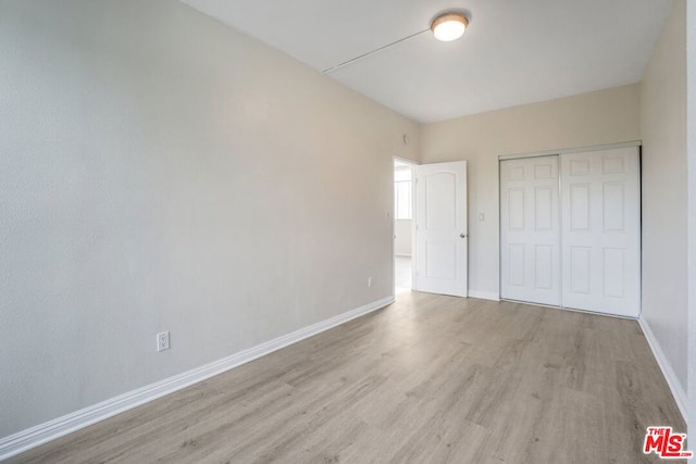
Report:
[[561,154],[566,308],[637,317],[638,148]]

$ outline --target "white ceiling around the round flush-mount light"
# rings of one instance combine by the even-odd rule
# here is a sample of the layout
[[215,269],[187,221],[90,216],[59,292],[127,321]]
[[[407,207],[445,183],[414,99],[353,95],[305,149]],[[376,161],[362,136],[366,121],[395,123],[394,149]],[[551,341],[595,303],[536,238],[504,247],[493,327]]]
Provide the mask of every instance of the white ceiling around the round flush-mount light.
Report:
[[422,123],[641,80],[669,0],[182,0],[324,71],[427,29],[442,11],[462,39],[418,35],[328,73]]

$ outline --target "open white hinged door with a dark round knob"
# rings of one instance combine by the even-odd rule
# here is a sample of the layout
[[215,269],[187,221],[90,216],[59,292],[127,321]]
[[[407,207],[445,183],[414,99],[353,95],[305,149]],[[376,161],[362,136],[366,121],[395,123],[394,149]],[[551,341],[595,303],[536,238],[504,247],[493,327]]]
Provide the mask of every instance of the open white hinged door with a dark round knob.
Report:
[[467,162],[415,168],[415,289],[467,297]]

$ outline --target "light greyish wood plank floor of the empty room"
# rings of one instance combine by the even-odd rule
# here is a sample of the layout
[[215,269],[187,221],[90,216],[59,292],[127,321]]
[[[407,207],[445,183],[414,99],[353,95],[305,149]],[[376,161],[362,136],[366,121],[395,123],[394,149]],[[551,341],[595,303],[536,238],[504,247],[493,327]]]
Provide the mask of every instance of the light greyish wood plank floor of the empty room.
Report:
[[643,463],[685,425],[634,321],[397,303],[10,462]]

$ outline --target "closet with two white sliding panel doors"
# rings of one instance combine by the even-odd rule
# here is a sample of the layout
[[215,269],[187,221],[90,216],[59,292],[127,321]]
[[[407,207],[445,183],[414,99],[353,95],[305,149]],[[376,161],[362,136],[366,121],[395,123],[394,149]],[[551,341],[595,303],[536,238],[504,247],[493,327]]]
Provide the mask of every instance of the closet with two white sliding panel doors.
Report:
[[638,150],[500,161],[502,299],[638,316]]

